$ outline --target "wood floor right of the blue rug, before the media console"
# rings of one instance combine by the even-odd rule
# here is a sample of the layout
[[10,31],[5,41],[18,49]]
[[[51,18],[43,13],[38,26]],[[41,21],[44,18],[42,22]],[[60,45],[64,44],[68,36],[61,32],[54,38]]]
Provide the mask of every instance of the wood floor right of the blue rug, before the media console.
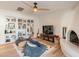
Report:
[[38,41],[46,44],[48,47],[50,47],[50,49],[52,49],[46,55],[44,55],[44,57],[65,57],[65,55],[63,54],[63,52],[61,50],[60,45],[56,45],[52,42],[48,42],[48,41],[42,40],[42,39],[38,39]]

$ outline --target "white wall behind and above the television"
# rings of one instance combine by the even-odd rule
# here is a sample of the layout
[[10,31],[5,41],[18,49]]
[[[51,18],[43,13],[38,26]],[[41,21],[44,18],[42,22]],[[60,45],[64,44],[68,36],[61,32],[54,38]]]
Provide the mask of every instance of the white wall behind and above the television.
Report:
[[[60,35],[60,26],[61,26],[61,15],[62,11],[48,13],[41,17],[40,23],[41,27],[43,25],[53,25],[54,26],[54,34]],[[42,31],[42,30],[40,30]]]

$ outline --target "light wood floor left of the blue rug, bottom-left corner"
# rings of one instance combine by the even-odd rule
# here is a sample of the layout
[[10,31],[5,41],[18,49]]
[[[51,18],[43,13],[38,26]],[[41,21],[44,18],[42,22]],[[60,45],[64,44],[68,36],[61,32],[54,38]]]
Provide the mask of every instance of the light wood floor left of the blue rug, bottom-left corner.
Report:
[[19,57],[13,44],[14,43],[0,45],[0,57]]

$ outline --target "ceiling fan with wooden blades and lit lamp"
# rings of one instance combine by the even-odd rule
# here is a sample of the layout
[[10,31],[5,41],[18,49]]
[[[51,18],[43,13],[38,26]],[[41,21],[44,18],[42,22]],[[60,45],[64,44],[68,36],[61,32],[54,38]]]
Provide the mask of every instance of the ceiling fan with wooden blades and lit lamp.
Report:
[[46,8],[39,8],[37,2],[34,2],[33,6],[31,6],[30,4],[25,3],[25,2],[23,2],[23,3],[26,4],[27,6],[31,7],[33,12],[46,12],[46,11],[49,11],[49,9],[46,9]]

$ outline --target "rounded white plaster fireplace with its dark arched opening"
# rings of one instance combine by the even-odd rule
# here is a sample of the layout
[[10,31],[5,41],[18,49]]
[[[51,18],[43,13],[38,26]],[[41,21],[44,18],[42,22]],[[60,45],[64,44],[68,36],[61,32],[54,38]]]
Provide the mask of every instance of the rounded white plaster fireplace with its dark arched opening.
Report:
[[75,29],[68,30],[66,34],[66,39],[61,39],[60,45],[65,56],[79,57],[78,31]]

